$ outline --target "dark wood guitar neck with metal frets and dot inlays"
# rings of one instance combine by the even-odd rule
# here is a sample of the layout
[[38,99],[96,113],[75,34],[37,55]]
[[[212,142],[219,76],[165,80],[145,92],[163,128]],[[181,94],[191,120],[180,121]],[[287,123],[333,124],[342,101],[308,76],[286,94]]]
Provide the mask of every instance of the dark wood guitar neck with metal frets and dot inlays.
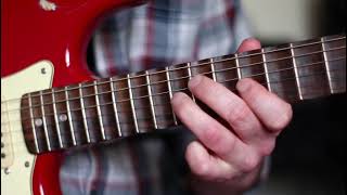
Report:
[[291,103],[343,93],[346,38],[322,37],[27,93],[21,115],[28,150],[44,153],[180,125],[170,99],[181,91],[195,101],[187,87],[195,75],[231,91],[237,80],[253,78]]

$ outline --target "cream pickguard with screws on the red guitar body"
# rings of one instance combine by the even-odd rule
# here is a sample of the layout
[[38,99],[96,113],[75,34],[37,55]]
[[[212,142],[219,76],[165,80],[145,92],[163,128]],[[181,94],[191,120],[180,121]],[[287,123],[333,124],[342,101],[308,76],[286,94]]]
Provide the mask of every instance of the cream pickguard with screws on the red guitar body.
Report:
[[[36,156],[26,150],[21,123],[21,96],[24,93],[52,87],[53,65],[40,61],[16,74],[1,78],[1,132],[7,157],[1,158],[1,194],[33,194],[31,178]],[[15,100],[10,101],[9,100]],[[15,112],[5,112],[15,110]],[[4,139],[4,140],[3,140]],[[1,148],[1,153],[3,148]]]

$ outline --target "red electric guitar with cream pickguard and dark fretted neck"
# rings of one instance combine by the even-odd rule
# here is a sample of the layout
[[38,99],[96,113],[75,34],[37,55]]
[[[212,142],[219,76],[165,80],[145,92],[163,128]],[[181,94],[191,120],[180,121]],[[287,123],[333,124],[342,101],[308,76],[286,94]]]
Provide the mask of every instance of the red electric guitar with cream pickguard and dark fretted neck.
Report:
[[59,195],[62,151],[179,125],[170,98],[197,74],[230,90],[250,77],[291,103],[346,92],[345,35],[95,79],[92,29],[137,3],[1,1],[1,194]]

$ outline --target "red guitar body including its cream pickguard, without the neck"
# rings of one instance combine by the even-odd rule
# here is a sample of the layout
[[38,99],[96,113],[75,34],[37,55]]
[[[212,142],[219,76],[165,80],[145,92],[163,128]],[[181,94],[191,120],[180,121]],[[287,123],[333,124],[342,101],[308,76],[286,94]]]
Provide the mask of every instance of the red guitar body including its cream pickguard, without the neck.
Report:
[[[55,3],[55,10],[44,10],[39,0],[1,1],[1,102],[18,99],[8,106],[9,110],[20,109],[20,99],[24,93],[94,79],[87,68],[86,50],[101,16],[143,1],[50,2]],[[1,158],[1,194],[62,194],[59,181],[62,153],[29,154],[20,112],[5,118],[16,122],[4,129],[1,127],[1,132],[11,131],[7,133],[10,135],[7,140],[12,144],[8,147],[12,156],[7,156],[7,165]],[[2,119],[1,116],[1,122]]]

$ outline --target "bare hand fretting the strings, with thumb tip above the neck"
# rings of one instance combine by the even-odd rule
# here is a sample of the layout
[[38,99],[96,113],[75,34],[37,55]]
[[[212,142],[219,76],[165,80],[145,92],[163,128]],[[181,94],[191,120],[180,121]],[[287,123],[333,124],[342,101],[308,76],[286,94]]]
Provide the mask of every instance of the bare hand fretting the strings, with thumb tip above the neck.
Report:
[[[259,48],[259,41],[247,39],[237,52]],[[274,148],[277,135],[292,119],[291,105],[249,78],[237,82],[240,96],[204,76],[193,77],[189,89],[229,125],[207,115],[187,94],[174,94],[176,115],[198,139],[185,151],[192,172],[202,181],[235,191],[250,187],[264,158]]]

